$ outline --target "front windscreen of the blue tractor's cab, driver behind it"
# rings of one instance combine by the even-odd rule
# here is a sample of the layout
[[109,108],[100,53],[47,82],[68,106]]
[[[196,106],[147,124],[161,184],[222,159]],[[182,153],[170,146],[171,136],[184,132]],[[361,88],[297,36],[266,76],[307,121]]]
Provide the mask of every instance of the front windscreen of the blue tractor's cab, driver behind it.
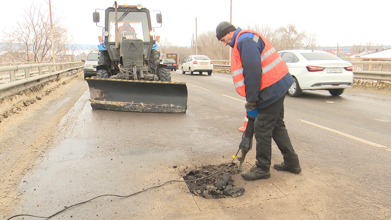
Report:
[[[147,13],[129,12],[125,16],[124,12],[118,11],[118,32],[122,39],[140,39],[150,41]],[[109,12],[109,36],[110,42],[115,42],[115,12]]]

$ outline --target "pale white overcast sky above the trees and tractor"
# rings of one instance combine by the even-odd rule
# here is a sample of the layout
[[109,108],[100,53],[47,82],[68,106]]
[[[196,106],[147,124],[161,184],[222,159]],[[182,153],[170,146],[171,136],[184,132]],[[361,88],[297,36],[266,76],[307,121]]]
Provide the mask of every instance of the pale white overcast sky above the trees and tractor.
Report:
[[[21,20],[23,9],[32,0],[2,1],[0,30]],[[235,27],[248,25],[286,26],[292,23],[298,31],[317,35],[320,46],[336,47],[367,43],[391,45],[389,29],[389,0],[232,0],[232,23]],[[167,38],[174,45],[190,45],[197,32],[215,30],[222,21],[230,21],[230,0],[138,0],[118,4],[142,4],[149,10],[160,10],[162,27],[156,28],[160,39]],[[48,8],[48,0],[34,0]],[[106,9],[114,0],[51,0],[52,12],[62,16],[62,24],[68,27],[75,43],[99,44],[102,29],[92,21],[95,9]],[[100,11],[101,20],[104,13]],[[0,34],[1,35],[1,34]],[[216,39],[217,40],[217,39]]]

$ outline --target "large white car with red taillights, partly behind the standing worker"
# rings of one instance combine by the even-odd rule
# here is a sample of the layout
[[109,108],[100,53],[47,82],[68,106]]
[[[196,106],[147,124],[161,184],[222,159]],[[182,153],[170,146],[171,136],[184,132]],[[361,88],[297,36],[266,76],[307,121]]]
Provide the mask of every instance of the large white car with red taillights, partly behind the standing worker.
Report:
[[287,63],[294,83],[288,90],[292,97],[301,90],[328,90],[339,96],[353,85],[353,65],[321,50],[281,50],[281,58]]

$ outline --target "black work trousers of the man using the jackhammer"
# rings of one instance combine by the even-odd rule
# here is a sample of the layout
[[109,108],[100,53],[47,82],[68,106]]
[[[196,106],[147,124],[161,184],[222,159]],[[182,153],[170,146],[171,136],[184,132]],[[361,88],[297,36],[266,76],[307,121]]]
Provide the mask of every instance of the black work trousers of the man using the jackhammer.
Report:
[[291,139],[289,139],[284,119],[284,99],[258,110],[254,123],[254,136],[256,139],[256,159],[262,170],[270,170],[271,139],[280,149],[284,164],[294,166],[299,164],[299,158],[294,152]]

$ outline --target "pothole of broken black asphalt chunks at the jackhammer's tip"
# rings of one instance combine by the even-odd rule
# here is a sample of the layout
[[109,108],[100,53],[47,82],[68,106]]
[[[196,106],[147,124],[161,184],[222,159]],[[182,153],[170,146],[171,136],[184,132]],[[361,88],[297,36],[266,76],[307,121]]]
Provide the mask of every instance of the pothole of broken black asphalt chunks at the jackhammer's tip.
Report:
[[[228,165],[229,163],[208,165],[201,166],[190,171],[186,171],[187,174],[183,177],[183,179],[194,180],[186,182],[190,193],[195,196],[200,196],[208,199],[238,197],[242,195],[244,193],[244,188],[237,188],[232,180],[232,175],[239,173],[238,167],[235,163],[231,164],[231,166],[229,167]],[[219,172],[208,177],[216,171]]]

